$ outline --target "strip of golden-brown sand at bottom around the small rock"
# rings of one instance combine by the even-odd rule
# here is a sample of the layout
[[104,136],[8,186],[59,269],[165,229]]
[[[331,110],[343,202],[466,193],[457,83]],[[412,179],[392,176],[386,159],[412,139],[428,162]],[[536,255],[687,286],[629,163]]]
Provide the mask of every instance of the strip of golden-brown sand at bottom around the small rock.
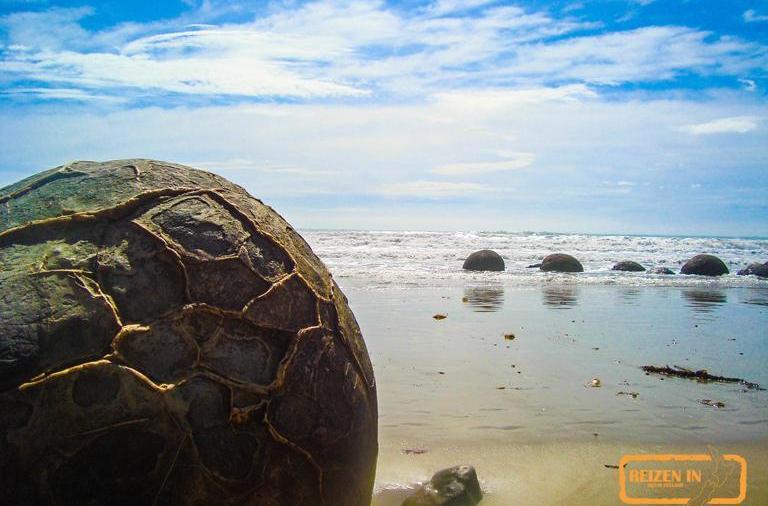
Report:
[[[643,453],[735,453],[748,462],[745,505],[768,499],[768,438],[732,445],[654,445],[621,442],[521,443],[479,446],[473,442],[436,447],[423,455],[396,454],[384,448],[379,457],[372,506],[399,506],[414,482],[441,467],[471,463],[480,478],[483,506],[509,504],[621,504],[613,468],[624,455]],[[474,462],[471,459],[475,459]],[[415,478],[415,479],[414,479]],[[410,479],[411,481],[408,481]]]

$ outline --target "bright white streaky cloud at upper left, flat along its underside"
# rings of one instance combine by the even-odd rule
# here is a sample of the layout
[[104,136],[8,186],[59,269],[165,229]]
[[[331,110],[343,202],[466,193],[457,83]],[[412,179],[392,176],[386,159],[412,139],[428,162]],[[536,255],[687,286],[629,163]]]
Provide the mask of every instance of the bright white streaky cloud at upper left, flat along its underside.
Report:
[[[88,89],[134,87],[164,92],[285,96],[360,96],[367,92],[303,76],[280,59],[330,58],[322,41],[293,48],[290,37],[201,30],[140,38],[120,53],[11,51],[7,73]],[[192,51],[192,55],[181,55]]]

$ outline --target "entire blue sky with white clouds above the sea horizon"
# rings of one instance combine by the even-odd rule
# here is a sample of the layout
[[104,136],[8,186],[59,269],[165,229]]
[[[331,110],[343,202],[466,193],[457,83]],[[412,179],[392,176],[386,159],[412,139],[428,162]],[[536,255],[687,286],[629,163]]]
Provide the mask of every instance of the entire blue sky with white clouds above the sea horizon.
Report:
[[297,227],[768,236],[768,1],[0,0],[0,186],[221,173]]

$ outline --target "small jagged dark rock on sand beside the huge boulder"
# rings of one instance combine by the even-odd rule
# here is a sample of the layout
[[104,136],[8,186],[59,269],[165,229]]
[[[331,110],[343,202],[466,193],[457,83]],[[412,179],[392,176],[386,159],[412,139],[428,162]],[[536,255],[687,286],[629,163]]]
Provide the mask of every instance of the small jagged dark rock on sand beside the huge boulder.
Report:
[[475,506],[482,499],[475,468],[455,466],[436,472],[402,506]]

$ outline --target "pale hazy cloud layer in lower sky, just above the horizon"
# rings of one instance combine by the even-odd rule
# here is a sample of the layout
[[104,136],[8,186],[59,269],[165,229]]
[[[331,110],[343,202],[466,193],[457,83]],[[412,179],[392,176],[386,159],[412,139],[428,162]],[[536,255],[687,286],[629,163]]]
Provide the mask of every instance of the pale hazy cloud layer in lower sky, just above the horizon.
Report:
[[[21,114],[0,108],[0,138],[8,147],[0,150],[0,186],[66,160],[146,157],[222,171],[296,226],[424,228],[442,220],[455,228],[451,220],[460,217],[468,228],[551,230],[607,219],[627,230],[712,233],[711,220],[691,229],[675,217],[699,211],[712,216],[714,210],[725,215],[726,201],[731,207],[733,201],[742,208],[756,206],[753,214],[760,216],[768,156],[762,132],[735,139],[679,129],[680,118],[702,124],[767,117],[768,108],[752,94],[627,101],[594,91],[590,96],[557,89],[521,93],[517,98],[525,100],[500,100],[496,107],[478,92],[482,107],[473,100],[435,99],[97,112],[49,104],[25,107]],[[536,100],[529,100],[532,96]],[[536,170],[450,179],[431,172],[510,152],[535,153]],[[701,174],[712,191],[680,191]],[[752,193],[735,195],[740,181],[750,181]],[[691,201],[694,196],[699,200]],[[350,221],[323,210],[336,206],[370,211]],[[483,218],[489,215],[492,222]],[[722,230],[749,232],[754,223]]]

